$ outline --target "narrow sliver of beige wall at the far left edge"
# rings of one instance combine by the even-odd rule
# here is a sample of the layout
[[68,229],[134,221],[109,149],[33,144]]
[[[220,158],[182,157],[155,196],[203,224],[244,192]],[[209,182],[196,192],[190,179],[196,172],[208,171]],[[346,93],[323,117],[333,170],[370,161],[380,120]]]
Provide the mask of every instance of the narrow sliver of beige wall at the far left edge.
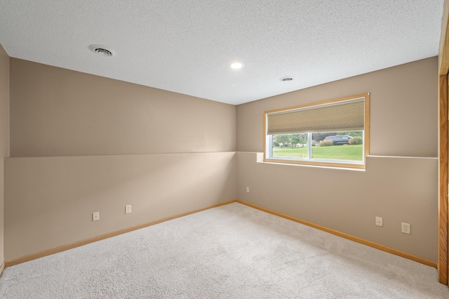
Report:
[[9,156],[9,57],[0,45],[0,266],[4,263],[4,158]]

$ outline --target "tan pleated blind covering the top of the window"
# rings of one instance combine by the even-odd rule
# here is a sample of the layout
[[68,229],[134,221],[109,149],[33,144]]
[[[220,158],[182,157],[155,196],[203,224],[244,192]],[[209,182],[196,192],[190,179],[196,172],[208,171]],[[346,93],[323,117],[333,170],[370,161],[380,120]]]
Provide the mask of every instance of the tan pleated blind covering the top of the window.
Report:
[[267,135],[356,131],[364,127],[364,97],[267,113]]

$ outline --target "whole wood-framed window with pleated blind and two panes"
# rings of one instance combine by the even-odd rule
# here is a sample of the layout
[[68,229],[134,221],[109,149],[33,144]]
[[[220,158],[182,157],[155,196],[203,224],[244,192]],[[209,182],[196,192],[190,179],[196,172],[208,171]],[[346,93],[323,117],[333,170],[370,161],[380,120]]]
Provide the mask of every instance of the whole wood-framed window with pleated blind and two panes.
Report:
[[264,161],[365,168],[369,93],[264,112]]

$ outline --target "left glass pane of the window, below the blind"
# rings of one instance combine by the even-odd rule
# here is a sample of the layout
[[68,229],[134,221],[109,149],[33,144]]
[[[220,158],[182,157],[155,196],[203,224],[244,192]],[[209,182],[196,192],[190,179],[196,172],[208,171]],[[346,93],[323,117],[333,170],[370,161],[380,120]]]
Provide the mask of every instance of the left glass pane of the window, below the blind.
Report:
[[307,133],[273,135],[273,156],[307,159]]

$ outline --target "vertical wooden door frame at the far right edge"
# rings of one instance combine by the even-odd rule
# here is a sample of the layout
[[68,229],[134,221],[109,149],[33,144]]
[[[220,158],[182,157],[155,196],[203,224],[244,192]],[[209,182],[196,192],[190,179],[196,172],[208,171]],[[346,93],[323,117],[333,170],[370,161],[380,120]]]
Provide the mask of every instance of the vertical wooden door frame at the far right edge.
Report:
[[444,1],[438,51],[438,278],[448,284],[448,71],[449,0]]

